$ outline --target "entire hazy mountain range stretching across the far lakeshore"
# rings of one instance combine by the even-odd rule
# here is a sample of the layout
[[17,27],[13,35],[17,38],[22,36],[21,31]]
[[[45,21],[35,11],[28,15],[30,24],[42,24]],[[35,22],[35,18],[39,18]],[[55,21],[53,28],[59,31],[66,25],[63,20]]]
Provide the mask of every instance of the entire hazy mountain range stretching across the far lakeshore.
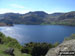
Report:
[[5,13],[0,14],[0,22],[6,24],[45,25],[62,24],[75,25],[75,11],[68,13],[48,14],[43,11],[28,12],[26,14]]

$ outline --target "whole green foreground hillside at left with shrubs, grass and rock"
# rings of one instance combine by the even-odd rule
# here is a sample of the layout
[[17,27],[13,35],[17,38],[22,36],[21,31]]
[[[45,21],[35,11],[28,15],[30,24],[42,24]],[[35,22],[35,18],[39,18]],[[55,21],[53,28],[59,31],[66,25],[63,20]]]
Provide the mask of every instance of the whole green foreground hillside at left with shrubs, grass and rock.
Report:
[[0,32],[0,56],[31,56],[29,54],[21,53],[22,46],[16,39],[6,37]]

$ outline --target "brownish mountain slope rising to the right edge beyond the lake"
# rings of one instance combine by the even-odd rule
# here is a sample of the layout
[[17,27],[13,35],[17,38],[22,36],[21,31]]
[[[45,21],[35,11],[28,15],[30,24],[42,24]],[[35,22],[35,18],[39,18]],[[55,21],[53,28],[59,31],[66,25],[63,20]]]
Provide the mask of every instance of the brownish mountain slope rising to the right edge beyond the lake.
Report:
[[75,11],[65,13],[56,19],[60,24],[75,25]]

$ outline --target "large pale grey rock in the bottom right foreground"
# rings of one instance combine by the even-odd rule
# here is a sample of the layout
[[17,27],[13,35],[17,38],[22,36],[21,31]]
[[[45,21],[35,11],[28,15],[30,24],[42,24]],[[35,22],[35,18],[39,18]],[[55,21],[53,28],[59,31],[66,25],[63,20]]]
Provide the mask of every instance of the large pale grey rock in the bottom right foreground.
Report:
[[75,40],[68,40],[50,49],[45,56],[58,56],[60,51],[75,51]]

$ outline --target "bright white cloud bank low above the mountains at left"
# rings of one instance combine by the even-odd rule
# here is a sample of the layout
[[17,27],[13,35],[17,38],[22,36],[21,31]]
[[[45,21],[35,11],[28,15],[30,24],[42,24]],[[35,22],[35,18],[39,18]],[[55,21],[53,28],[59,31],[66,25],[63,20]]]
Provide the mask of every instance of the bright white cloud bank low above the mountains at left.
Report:
[[8,8],[0,8],[0,14],[9,13],[9,12],[24,14],[24,13],[29,12],[29,10],[13,10],[13,9],[8,9]]

